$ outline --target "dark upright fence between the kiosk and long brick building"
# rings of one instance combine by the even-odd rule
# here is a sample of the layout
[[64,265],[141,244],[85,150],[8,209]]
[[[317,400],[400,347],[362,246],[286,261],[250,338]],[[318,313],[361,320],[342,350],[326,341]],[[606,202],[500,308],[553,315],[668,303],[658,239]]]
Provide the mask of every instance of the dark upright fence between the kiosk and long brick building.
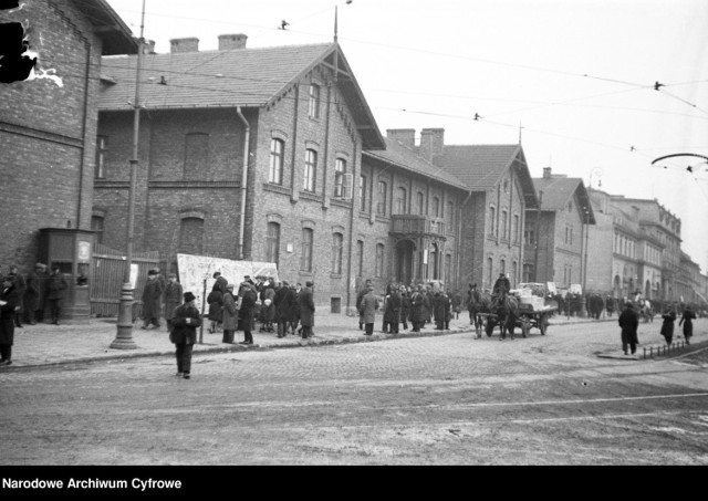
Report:
[[[133,263],[138,265],[137,283],[133,296],[133,319],[143,311],[140,300],[150,268],[159,267],[159,252],[136,252]],[[125,253],[96,243],[93,249],[93,281],[91,282],[91,314],[93,316],[118,316],[121,288],[125,273]]]

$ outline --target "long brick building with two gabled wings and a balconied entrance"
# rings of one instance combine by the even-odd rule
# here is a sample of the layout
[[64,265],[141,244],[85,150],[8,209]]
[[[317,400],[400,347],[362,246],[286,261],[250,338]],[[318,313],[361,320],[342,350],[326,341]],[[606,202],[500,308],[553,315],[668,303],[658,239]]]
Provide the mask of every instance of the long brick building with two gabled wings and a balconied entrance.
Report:
[[[535,200],[519,145],[481,157],[466,147],[460,168],[493,178],[470,186],[435,161],[441,129],[424,129],[420,145],[412,129],[381,135],[336,43],[247,49],[227,34],[217,51],[171,45],[144,56],[136,251],[158,251],[170,270],[177,253],[275,262],[282,280],[313,280],[333,312],[352,311],[365,279],[379,291],[518,280]],[[122,249],[136,58],[103,64],[92,225]]]

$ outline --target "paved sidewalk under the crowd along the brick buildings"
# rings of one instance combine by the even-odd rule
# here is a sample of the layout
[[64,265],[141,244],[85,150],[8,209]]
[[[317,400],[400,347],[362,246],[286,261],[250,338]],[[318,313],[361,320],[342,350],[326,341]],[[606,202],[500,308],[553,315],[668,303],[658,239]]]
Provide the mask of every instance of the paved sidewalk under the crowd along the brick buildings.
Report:
[[[221,333],[210,334],[208,327],[204,327],[201,343],[195,344],[195,356],[202,353],[228,353],[252,349],[275,349],[288,347],[302,347],[312,345],[361,343],[382,341],[387,338],[425,337],[446,334],[472,332],[469,325],[469,315],[462,312],[458,320],[450,322],[449,331],[436,331],[435,325],[427,324],[419,333],[400,328],[399,334],[383,334],[382,315],[376,316],[374,335],[365,336],[358,330],[358,317],[344,314],[317,314],[314,337],[308,341],[299,336],[288,335],[278,338],[275,333],[259,332],[257,324],[253,331],[253,345],[221,343]],[[616,322],[615,317],[594,322]],[[556,325],[593,322],[590,319],[555,316],[551,319],[551,332]],[[38,367],[75,362],[126,359],[147,356],[174,356],[175,345],[169,342],[167,328],[163,322],[159,328],[142,330],[139,322],[133,328],[133,341],[137,345],[135,349],[114,349],[111,344],[116,337],[116,319],[91,319],[83,322],[65,321],[61,325],[37,324],[25,325],[14,330],[14,345],[12,346],[12,365],[2,367],[8,370],[19,367]],[[532,334],[537,331],[532,330]],[[498,332],[494,333],[498,335]],[[517,330],[517,335],[520,335]],[[199,331],[197,331],[199,340]],[[243,341],[243,333],[237,332],[235,342]]]

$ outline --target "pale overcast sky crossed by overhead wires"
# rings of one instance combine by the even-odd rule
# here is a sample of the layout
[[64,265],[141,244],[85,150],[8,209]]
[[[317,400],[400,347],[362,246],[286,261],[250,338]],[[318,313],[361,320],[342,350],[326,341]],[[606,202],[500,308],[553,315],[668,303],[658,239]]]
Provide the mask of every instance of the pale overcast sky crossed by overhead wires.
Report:
[[[139,35],[143,0],[108,3]],[[225,33],[247,34],[250,48],[325,43],[335,6],[382,134],[442,127],[446,144],[521,134],[533,177],[551,166],[587,185],[592,173],[593,187],[657,198],[707,272],[708,164],[652,161],[708,156],[708,1],[146,0],[145,38],[158,53],[184,36],[216,50]]]

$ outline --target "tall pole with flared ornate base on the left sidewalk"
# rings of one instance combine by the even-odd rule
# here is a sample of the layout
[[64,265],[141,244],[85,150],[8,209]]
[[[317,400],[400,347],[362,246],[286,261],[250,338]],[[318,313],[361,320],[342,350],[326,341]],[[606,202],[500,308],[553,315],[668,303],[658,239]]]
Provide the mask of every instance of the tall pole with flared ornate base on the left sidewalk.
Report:
[[133,240],[135,225],[135,191],[137,186],[138,166],[138,134],[140,126],[140,73],[143,70],[143,48],[145,28],[145,0],[140,17],[140,38],[138,39],[137,62],[135,70],[135,103],[133,103],[133,158],[131,158],[131,185],[128,188],[128,221],[125,255],[125,270],[123,273],[123,286],[121,288],[121,301],[118,304],[118,322],[116,336],[111,343],[114,349],[135,349],[137,345],[133,341],[133,284],[131,282],[131,269],[133,268]]

